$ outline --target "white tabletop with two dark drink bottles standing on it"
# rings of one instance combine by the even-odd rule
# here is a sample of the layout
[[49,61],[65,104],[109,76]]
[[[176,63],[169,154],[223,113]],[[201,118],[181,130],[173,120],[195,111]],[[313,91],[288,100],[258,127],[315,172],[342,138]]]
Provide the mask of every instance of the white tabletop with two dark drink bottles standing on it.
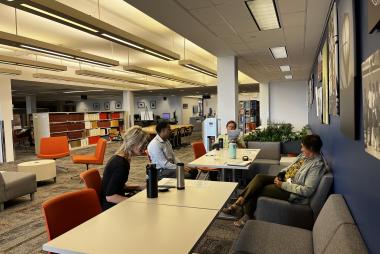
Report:
[[[159,182],[159,185],[176,186],[176,182],[176,179],[164,178]],[[171,188],[167,192],[159,192],[158,198],[147,198],[144,190],[127,199],[127,201],[219,211],[237,185],[237,183],[227,182],[185,180],[185,190]]]

